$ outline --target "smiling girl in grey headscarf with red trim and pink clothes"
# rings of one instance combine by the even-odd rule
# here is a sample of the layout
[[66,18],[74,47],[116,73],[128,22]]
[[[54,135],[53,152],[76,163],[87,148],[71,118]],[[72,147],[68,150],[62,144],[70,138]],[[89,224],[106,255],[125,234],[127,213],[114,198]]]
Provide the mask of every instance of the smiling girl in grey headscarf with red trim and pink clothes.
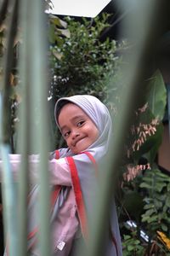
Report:
[[[107,154],[111,139],[111,116],[94,96],[77,95],[60,98],[54,117],[68,148],[50,156],[49,178],[52,185],[51,230],[53,255],[75,256],[75,245],[88,238],[88,214],[93,212],[96,172]],[[18,159],[18,160],[17,160]],[[14,173],[20,156],[11,156]],[[31,181],[37,181],[38,156],[30,160]],[[36,214],[38,185],[29,195],[28,251],[40,255],[37,248]],[[111,236],[105,236],[105,256],[122,256],[116,208],[111,212]]]

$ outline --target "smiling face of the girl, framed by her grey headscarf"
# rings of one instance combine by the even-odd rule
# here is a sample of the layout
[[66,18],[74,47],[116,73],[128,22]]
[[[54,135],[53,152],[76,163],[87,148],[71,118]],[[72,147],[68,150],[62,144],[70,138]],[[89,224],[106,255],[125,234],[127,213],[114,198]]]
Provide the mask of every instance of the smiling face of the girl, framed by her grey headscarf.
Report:
[[59,128],[74,154],[79,154],[99,137],[92,119],[74,103],[67,103],[59,113]]

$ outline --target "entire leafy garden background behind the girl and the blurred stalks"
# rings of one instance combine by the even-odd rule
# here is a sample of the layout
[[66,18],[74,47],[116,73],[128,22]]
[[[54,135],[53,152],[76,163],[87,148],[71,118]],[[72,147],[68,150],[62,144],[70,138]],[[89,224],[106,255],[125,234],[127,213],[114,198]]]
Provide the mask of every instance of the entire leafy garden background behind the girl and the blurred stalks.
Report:
[[[141,97],[133,106],[116,181],[112,181],[113,186],[116,185],[116,207],[124,256],[170,255],[170,166],[169,169],[161,166],[159,158],[163,154],[160,148],[169,121],[169,24],[167,8],[163,3],[156,16],[157,31],[146,48],[150,51],[145,50],[144,59],[141,59],[144,68],[138,84]],[[3,4],[0,15],[1,63],[8,53],[6,32],[10,15],[8,4]],[[54,124],[54,103],[60,96],[90,94],[99,97],[113,116],[113,127],[116,126],[114,122],[122,108],[121,95],[127,87],[122,70],[130,65],[127,56],[133,55],[136,47],[135,40],[128,38],[126,33],[122,36],[119,31],[124,15],[126,13],[121,13],[115,5],[107,6],[94,19],[48,15],[46,75],[47,105],[51,113],[48,119],[50,151],[65,146]],[[3,84],[4,73],[8,73],[8,143],[13,153],[17,153],[20,137],[17,111],[23,104],[18,73],[22,28],[17,15],[13,32],[12,61],[8,71],[1,64],[0,82]],[[1,90],[4,90],[3,85]]]

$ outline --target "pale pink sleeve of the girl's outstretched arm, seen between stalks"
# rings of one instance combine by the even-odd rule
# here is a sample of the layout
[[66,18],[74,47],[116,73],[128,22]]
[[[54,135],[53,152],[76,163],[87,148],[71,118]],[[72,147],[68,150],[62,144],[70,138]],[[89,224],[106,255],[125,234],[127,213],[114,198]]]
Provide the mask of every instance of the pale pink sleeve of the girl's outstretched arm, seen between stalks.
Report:
[[[10,154],[9,160],[11,164],[11,169],[14,175],[14,181],[18,180],[19,170],[20,170],[20,154]],[[38,183],[38,167],[39,166],[39,155],[32,154],[29,157],[29,176],[31,183]],[[0,172],[3,171],[3,161],[0,160]],[[71,172],[70,168],[65,160],[61,158],[59,160],[49,160],[48,161],[48,171],[49,171],[49,183],[55,185],[65,185],[71,186]],[[2,179],[2,173],[1,173]]]

